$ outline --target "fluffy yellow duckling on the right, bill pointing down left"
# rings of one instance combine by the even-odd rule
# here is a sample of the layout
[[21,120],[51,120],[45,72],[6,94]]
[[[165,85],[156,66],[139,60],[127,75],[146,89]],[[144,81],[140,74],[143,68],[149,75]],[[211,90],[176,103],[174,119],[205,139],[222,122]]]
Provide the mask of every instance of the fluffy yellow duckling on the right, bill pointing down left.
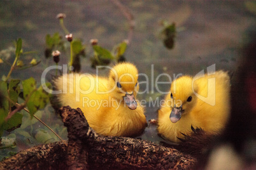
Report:
[[220,132],[229,117],[229,91],[229,75],[223,71],[195,77],[194,81],[187,75],[179,77],[171,84],[171,94],[158,112],[159,134],[179,142],[178,138],[191,132],[191,126]]

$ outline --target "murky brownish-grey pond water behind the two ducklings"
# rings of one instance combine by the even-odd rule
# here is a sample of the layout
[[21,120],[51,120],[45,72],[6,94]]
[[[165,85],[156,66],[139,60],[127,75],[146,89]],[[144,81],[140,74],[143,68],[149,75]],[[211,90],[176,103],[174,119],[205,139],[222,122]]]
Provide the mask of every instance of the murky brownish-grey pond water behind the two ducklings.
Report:
[[[42,62],[31,69],[15,70],[13,78],[27,79],[34,77],[38,83],[46,67],[54,65],[44,56],[45,36],[59,32],[64,36],[58,13],[65,13],[64,24],[75,38],[80,38],[87,45],[87,58],[82,58],[82,72],[95,73],[90,67],[89,56],[92,55],[90,39],[98,39],[99,45],[112,49],[116,44],[127,39],[129,22],[113,1],[7,1],[0,2],[0,50],[13,46],[18,37],[23,40],[25,51],[37,51],[24,58],[29,62],[37,58]],[[138,66],[139,72],[148,75],[148,93],[138,96],[139,99],[155,100],[162,97],[160,91],[167,91],[170,84],[159,84],[155,81],[160,74],[168,74],[171,79],[178,74],[196,75],[203,69],[215,64],[216,70],[236,72],[241,60],[241,48],[245,44],[247,33],[255,29],[255,9],[250,1],[122,1],[134,16],[135,27],[125,57],[127,61]],[[174,48],[167,49],[161,39],[160,25],[162,20],[176,23],[178,33]],[[14,56],[9,61],[12,62]],[[64,53],[60,65],[68,61]],[[8,65],[0,64],[0,76],[10,70]],[[206,71],[206,70],[205,70]],[[106,73],[103,71],[101,74]],[[162,75],[159,81],[168,81]],[[141,81],[143,77],[139,78]],[[146,84],[141,84],[141,91]],[[156,119],[159,107],[146,107],[147,119]],[[50,124],[62,126],[59,118],[51,115],[53,109],[46,107],[48,114],[40,112],[41,117]],[[54,122],[53,122],[54,121]],[[41,124],[34,124],[36,128]],[[33,126],[33,127],[34,127]],[[25,127],[28,130],[29,127]],[[34,127],[35,128],[35,127]],[[59,129],[59,131],[61,131]],[[31,130],[31,129],[30,129]],[[16,130],[15,130],[16,131]],[[32,131],[32,130],[31,130]],[[35,131],[35,130],[33,130]],[[15,132],[13,132],[15,133]],[[34,136],[38,131],[33,132]],[[7,134],[6,134],[7,135]],[[23,135],[24,136],[24,135]],[[63,138],[66,138],[63,133]],[[142,138],[159,141],[155,128],[150,126]],[[24,138],[18,138],[24,140]],[[32,143],[29,141],[29,143]],[[36,145],[38,143],[33,143]],[[17,142],[18,145],[18,142]],[[18,145],[15,151],[29,147]]]

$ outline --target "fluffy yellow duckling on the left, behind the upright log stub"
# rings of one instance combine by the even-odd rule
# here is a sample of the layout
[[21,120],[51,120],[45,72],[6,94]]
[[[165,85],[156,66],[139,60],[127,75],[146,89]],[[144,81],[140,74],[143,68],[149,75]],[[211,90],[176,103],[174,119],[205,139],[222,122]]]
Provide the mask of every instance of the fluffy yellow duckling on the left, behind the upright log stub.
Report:
[[132,63],[119,63],[109,77],[65,74],[54,81],[61,105],[80,108],[97,134],[137,136],[147,123],[144,108],[135,97],[139,90],[138,70]]

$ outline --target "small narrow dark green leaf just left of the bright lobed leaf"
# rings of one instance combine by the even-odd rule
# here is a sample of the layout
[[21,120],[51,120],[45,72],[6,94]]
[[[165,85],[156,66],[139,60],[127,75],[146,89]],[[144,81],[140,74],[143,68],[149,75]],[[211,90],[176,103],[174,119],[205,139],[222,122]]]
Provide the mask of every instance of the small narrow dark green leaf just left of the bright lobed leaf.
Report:
[[[9,83],[9,96],[12,101],[17,103],[18,101],[18,95],[20,94],[20,86],[19,86],[20,80],[17,79],[11,79]],[[11,107],[13,107],[13,104],[11,103]]]

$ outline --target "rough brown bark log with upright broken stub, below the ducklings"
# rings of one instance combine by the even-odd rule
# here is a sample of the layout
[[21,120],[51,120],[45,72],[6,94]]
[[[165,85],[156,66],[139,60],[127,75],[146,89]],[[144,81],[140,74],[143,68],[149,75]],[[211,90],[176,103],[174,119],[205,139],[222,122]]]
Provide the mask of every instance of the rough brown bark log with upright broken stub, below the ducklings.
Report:
[[68,128],[68,147],[59,141],[29,148],[0,162],[0,169],[192,169],[196,163],[151,141],[97,136],[79,108],[62,107],[59,114]]

